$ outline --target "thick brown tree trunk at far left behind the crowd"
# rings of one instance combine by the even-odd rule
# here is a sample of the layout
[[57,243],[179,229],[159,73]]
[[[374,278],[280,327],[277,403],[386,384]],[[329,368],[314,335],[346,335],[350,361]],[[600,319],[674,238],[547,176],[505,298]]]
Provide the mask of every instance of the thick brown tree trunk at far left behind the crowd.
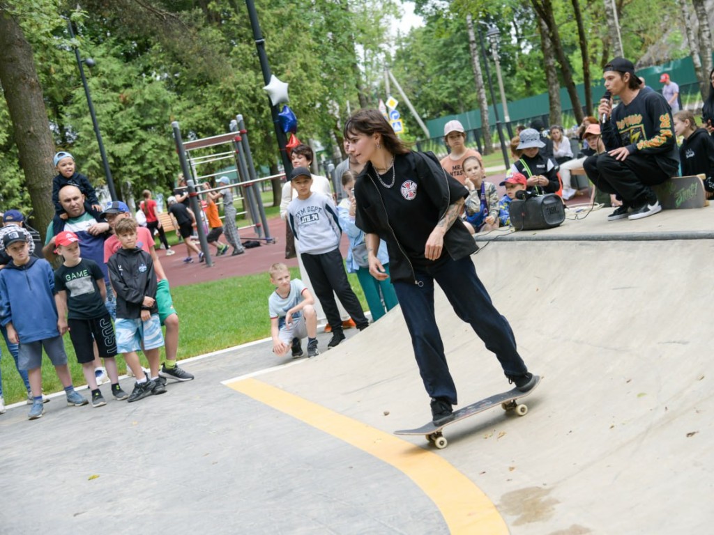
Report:
[[54,215],[51,195],[55,174],[52,165],[54,142],[32,48],[16,18],[1,7],[0,84],[15,129],[20,167],[34,211],[33,223],[44,239],[47,225]]

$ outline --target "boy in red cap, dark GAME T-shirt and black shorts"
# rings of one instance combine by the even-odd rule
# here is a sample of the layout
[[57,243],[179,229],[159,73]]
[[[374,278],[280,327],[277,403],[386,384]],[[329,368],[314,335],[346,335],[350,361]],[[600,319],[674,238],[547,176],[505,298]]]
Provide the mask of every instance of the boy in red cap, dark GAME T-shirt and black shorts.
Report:
[[94,342],[111,379],[111,393],[116,399],[126,399],[129,394],[119,386],[119,372],[114,360],[114,326],[104,306],[104,275],[94,260],[81,258],[79,238],[75,233],[63,230],[56,235],[54,243],[57,254],[64,258],[64,263],[54,272],[59,332],[64,335],[69,330],[77,362],[82,365],[84,378],[91,391],[92,407],[106,405],[94,374]]

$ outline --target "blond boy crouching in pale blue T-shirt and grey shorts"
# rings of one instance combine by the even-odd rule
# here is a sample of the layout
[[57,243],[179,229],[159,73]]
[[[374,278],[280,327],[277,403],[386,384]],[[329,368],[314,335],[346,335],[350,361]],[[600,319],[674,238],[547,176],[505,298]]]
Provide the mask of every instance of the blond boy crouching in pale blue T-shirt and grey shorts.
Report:
[[283,357],[288,349],[293,359],[303,356],[301,339],[308,339],[308,357],[320,354],[317,348],[317,312],[310,290],[300,279],[290,280],[285,264],[273,264],[268,270],[275,291],[268,297],[273,353]]

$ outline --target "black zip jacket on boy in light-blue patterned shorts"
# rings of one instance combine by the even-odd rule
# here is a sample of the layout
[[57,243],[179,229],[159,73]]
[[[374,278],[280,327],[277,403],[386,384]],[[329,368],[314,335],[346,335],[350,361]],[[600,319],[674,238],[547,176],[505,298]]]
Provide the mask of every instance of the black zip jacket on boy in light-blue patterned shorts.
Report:
[[135,320],[142,310],[151,314],[159,312],[159,307],[145,307],[142,303],[147,295],[156,300],[156,273],[151,255],[139,248],[121,248],[111,255],[109,280],[116,292],[116,317],[121,320]]

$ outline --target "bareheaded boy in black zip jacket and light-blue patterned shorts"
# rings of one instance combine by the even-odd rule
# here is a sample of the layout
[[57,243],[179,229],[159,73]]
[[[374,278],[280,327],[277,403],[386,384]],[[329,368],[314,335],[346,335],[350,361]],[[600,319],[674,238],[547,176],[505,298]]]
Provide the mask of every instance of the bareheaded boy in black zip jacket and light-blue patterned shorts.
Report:
[[[164,382],[159,380],[159,348],[164,345],[159,309],[156,306],[156,275],[151,255],[136,247],[136,221],[119,220],[114,234],[121,249],[109,258],[109,280],[116,293],[116,345],[124,355],[136,384],[129,403],[151,394],[164,394]],[[137,351],[144,345],[151,377],[146,377]]]

